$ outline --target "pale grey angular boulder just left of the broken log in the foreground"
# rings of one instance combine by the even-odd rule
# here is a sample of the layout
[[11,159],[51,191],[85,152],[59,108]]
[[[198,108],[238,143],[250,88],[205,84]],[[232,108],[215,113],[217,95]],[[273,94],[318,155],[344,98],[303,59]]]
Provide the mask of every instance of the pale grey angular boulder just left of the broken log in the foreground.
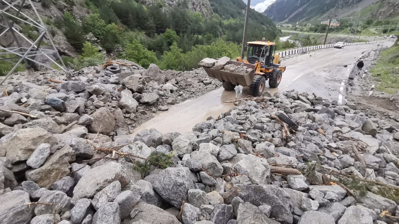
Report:
[[241,175],[246,175],[253,184],[265,184],[270,176],[270,167],[266,159],[253,154],[246,155],[235,164],[234,169]]

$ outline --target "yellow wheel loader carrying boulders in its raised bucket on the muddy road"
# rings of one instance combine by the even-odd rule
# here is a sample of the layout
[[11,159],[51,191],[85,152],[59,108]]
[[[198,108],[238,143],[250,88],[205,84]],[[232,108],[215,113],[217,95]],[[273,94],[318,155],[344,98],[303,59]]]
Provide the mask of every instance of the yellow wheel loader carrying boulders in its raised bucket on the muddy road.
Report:
[[[251,41],[247,43],[247,60],[237,57],[229,61],[223,69],[203,67],[209,77],[223,82],[223,88],[233,90],[235,86],[249,86],[251,96],[260,96],[265,90],[266,80],[271,88],[281,82],[285,66],[280,65],[280,55],[276,54],[276,43],[270,41]],[[229,65],[229,69],[227,69]],[[247,68],[246,73],[237,73],[237,68]]]

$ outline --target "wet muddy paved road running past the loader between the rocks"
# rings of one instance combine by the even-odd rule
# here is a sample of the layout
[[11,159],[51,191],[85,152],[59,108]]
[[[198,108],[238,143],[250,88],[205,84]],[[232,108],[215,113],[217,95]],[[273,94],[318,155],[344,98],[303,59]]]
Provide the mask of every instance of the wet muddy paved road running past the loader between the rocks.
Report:
[[[283,73],[279,88],[267,90],[274,94],[295,89],[338,100],[340,89],[346,92],[344,86],[351,68],[365,51],[375,48],[376,44],[346,46],[343,49],[328,48],[283,59],[282,65],[286,65],[287,70]],[[207,117],[217,118],[219,114],[234,106],[232,103],[223,103],[224,101],[244,98],[248,94],[248,87],[242,86],[237,86],[235,91],[223,88],[213,90],[198,98],[171,106],[168,111],[136,128],[133,135],[140,130],[150,128],[156,128],[162,133],[189,132],[195,124],[206,120]],[[344,95],[341,97],[344,98]]]

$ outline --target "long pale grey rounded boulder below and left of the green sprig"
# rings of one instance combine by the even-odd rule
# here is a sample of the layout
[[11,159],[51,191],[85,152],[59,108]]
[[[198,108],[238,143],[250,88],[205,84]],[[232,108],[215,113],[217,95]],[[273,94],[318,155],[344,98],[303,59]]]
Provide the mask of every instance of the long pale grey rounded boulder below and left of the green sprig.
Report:
[[107,187],[113,181],[119,181],[122,188],[132,182],[141,179],[140,173],[120,163],[113,161],[90,169],[76,184],[73,189],[72,203],[77,202],[80,198],[91,198],[97,192]]

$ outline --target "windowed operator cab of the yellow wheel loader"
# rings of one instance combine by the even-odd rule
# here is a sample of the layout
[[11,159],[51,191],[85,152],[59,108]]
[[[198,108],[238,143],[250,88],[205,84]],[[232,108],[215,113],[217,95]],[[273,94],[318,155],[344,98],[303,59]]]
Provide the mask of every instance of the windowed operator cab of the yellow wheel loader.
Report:
[[276,44],[270,41],[252,41],[248,42],[247,61],[255,64],[257,61],[263,62],[262,67],[273,66]]

